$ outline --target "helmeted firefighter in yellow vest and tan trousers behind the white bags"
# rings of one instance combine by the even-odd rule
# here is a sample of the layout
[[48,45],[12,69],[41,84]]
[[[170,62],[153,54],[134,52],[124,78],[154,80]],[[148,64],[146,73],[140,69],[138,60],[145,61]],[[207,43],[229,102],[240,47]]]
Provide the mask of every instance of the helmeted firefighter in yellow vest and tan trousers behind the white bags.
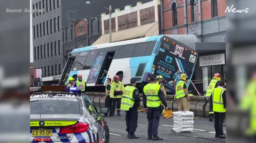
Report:
[[185,82],[187,80],[185,74],[180,75],[180,81],[176,84],[175,98],[178,100],[178,110],[179,111],[189,111],[189,93],[187,91],[187,86]]

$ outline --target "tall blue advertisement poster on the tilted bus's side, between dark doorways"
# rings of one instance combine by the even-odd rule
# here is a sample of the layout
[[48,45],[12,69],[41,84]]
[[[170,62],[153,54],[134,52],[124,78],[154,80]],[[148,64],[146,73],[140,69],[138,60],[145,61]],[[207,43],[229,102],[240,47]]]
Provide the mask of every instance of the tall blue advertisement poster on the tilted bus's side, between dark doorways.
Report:
[[106,52],[104,51],[99,51],[97,54],[93,64],[91,71],[88,75],[88,79],[86,83],[96,83],[97,78],[99,76],[99,72],[101,71],[101,66],[105,60]]

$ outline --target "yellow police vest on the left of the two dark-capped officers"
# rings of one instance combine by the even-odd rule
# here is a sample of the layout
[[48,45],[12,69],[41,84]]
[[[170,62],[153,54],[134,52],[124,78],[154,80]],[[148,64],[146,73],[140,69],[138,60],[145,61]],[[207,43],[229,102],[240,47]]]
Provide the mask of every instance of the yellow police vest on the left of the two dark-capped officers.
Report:
[[131,107],[133,107],[133,104],[135,100],[133,99],[133,91],[136,89],[134,86],[126,86],[123,90],[123,96],[121,99],[121,110],[128,111]]

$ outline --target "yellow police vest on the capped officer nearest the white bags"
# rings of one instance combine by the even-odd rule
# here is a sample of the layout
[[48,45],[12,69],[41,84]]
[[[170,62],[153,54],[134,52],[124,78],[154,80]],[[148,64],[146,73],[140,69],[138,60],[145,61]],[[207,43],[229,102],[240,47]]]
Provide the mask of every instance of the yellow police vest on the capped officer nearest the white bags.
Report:
[[147,107],[159,107],[161,105],[161,100],[158,96],[158,91],[161,85],[157,83],[148,83],[144,86],[143,91],[147,98]]

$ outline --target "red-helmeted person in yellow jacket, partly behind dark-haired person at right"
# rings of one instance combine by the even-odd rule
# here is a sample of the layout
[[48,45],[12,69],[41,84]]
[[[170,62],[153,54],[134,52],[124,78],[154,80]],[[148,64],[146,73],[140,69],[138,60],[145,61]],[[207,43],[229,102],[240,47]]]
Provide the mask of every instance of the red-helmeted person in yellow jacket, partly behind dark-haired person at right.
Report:
[[[210,98],[211,93],[213,92],[213,89],[215,89],[216,87],[218,87],[218,82],[220,81],[220,74],[219,73],[215,73],[213,79],[210,81],[210,84],[207,88],[206,91],[206,97]],[[213,104],[212,101],[210,101],[210,106],[209,106],[209,121],[213,121]]]

